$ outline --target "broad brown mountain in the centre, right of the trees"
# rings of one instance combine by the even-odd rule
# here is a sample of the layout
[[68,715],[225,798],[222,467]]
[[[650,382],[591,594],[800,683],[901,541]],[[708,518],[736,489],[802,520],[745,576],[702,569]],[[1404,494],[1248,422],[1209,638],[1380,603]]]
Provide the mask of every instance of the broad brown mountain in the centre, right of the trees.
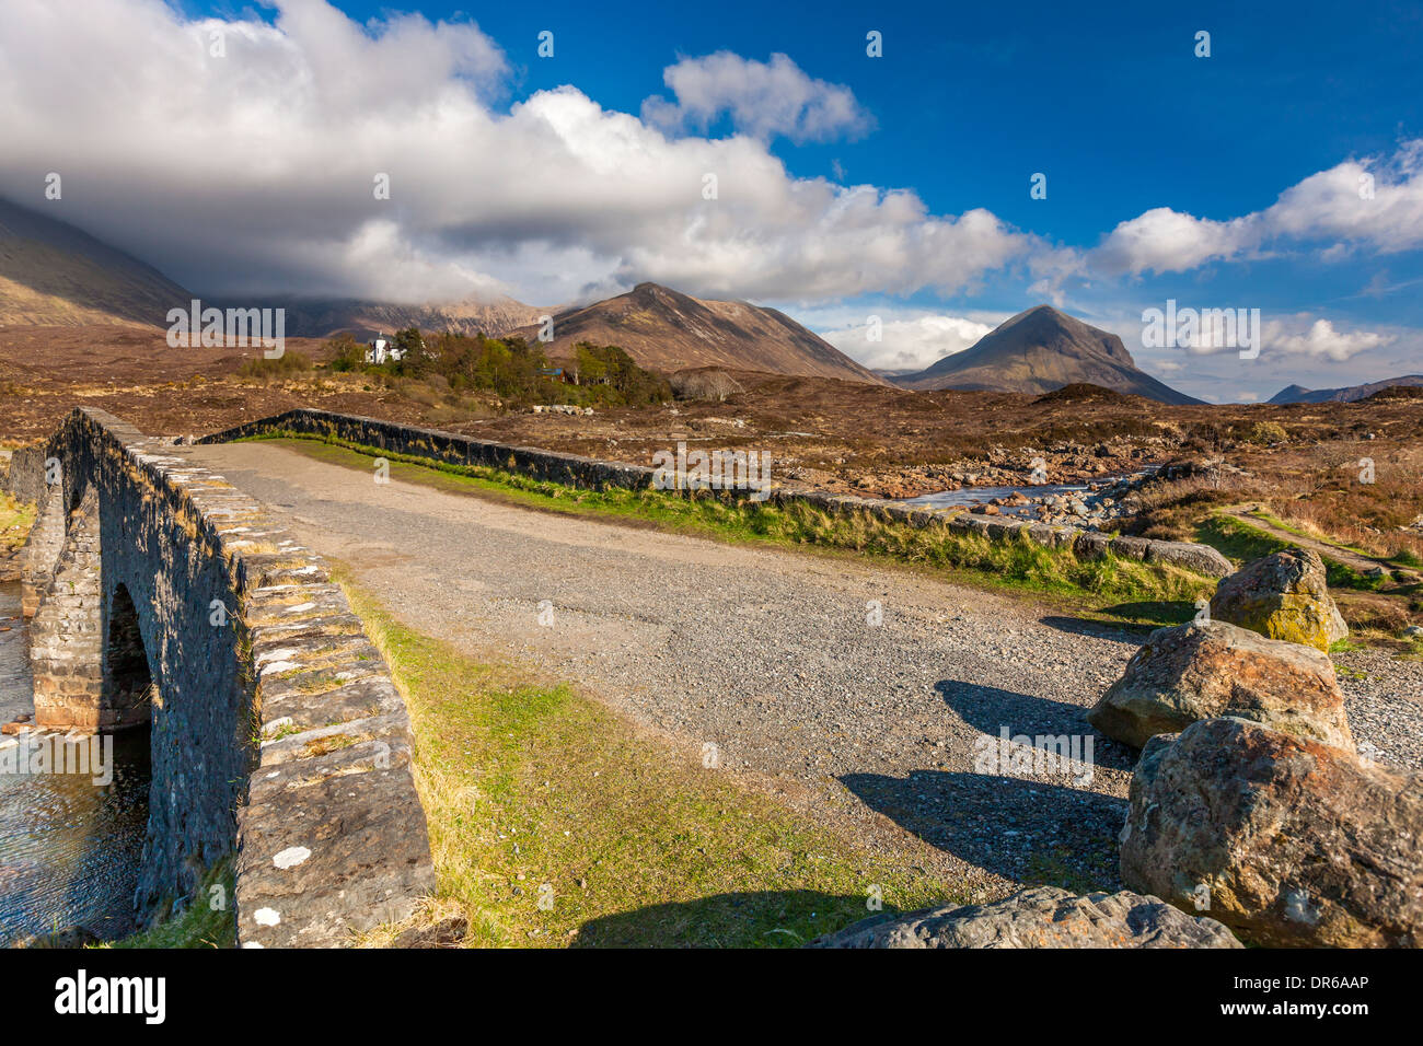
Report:
[[[532,342],[538,332],[531,323],[512,333]],[[566,359],[578,342],[622,346],[640,366],[662,371],[721,366],[887,384],[776,309],[703,302],[657,283],[556,313],[545,352]]]

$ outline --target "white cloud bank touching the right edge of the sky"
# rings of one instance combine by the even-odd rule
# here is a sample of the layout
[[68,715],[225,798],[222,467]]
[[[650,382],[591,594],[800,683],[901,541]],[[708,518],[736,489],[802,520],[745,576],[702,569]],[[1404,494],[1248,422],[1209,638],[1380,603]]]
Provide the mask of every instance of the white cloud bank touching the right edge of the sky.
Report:
[[1090,252],[1107,275],[1188,272],[1259,256],[1274,243],[1325,242],[1321,260],[1359,249],[1387,255],[1423,246],[1423,139],[1389,158],[1349,159],[1285,189],[1271,206],[1229,221],[1153,208],[1121,222]]

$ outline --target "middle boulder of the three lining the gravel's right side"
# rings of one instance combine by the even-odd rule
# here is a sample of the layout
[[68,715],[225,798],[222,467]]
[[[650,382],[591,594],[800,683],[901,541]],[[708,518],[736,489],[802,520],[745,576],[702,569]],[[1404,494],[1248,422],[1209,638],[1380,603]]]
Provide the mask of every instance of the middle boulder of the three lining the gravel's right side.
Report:
[[1222,620],[1153,632],[1087,722],[1140,749],[1155,734],[1217,716],[1355,750],[1328,655]]

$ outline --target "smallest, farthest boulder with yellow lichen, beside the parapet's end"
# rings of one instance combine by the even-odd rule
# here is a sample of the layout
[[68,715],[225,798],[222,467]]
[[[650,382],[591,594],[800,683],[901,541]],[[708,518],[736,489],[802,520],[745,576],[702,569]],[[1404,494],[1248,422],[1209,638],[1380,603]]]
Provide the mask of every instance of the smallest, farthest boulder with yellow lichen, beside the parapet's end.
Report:
[[1323,559],[1303,548],[1286,548],[1224,578],[1211,598],[1211,618],[1321,650],[1349,635],[1329,598]]

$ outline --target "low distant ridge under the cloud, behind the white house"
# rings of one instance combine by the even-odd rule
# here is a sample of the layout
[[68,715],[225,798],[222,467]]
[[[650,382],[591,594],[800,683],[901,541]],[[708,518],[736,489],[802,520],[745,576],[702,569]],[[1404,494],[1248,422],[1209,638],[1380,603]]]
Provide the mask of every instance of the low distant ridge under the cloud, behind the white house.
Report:
[[366,339],[371,334],[391,334],[403,327],[499,337],[517,327],[538,323],[539,316],[551,312],[515,302],[512,297],[495,297],[487,302],[468,297],[448,305],[289,299],[273,305],[286,309],[286,329],[300,337],[329,337],[340,330],[349,330],[356,337]]

